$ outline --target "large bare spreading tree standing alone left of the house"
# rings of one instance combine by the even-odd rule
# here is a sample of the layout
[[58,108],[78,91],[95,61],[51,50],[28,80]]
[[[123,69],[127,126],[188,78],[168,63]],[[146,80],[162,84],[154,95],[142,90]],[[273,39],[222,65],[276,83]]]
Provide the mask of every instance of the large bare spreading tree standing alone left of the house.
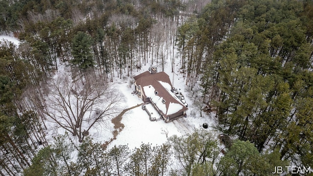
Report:
[[121,95],[96,77],[88,73],[77,80],[66,74],[56,76],[48,84],[46,106],[40,109],[51,122],[76,135],[79,142],[93,126],[110,122],[120,111]]

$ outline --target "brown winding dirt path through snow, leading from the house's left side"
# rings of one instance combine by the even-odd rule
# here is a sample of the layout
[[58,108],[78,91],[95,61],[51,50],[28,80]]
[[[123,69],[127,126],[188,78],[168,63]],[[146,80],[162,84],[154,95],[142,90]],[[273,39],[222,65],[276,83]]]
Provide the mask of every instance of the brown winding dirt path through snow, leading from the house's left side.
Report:
[[[142,103],[143,104],[143,103]],[[136,106],[133,106],[131,108],[127,108],[125,110],[122,110],[122,112],[120,114],[118,114],[116,117],[112,118],[112,123],[114,124],[114,131],[112,132],[113,133],[113,138],[110,139],[110,141],[106,141],[102,147],[104,149],[106,149],[108,147],[108,145],[116,139],[116,136],[119,132],[121,132],[123,129],[124,129],[124,124],[121,123],[121,120],[122,120],[122,117],[123,115],[125,114],[125,112],[127,112],[128,110],[132,110],[134,108],[137,108],[139,106],[141,106],[142,104],[138,104]]]

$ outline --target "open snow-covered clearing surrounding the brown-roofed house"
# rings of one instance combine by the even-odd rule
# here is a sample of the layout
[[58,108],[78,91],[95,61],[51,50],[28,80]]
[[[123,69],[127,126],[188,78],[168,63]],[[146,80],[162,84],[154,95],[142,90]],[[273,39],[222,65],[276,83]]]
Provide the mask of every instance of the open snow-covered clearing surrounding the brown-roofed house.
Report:
[[[179,63],[177,61],[176,63]],[[144,71],[147,71],[151,64],[147,64],[143,66],[139,72],[135,72],[133,76],[138,75]],[[171,72],[171,64],[170,61],[167,61],[165,65],[164,71],[170,76],[173,77],[173,73]],[[175,73],[179,73],[179,66],[176,66]],[[161,70],[161,68],[158,68]],[[116,78],[114,80],[116,88],[124,95],[125,97],[125,106],[133,107],[137,104],[143,103],[142,100],[137,97],[135,94],[132,94],[134,90],[134,85],[130,87],[130,80],[132,78],[124,78],[119,79]],[[172,81],[172,79],[171,79]],[[191,113],[194,109],[193,100],[187,96],[190,88],[185,86],[184,79],[182,75],[174,75],[174,83],[175,88],[179,89],[180,92],[185,96],[185,100],[188,103],[187,117],[181,117],[177,120],[174,120],[169,123],[165,123],[163,120],[159,121],[150,121],[149,115],[146,111],[137,107],[135,109],[129,110],[127,113],[123,115],[121,123],[125,125],[124,129],[116,136],[116,139],[113,140],[108,148],[112,148],[114,145],[126,145],[128,144],[129,148],[139,147],[141,143],[150,143],[152,145],[160,145],[167,141],[167,137],[165,133],[168,133],[168,137],[172,135],[184,135],[187,133],[192,133],[195,128],[201,128],[203,123],[208,123],[209,126],[214,126],[215,121],[213,120],[214,114],[207,115],[206,113],[202,113],[202,117],[200,117],[200,112]],[[173,84],[173,81],[172,81]],[[192,115],[191,115],[192,114]],[[212,117],[211,117],[212,116]],[[212,130],[212,128],[208,128],[208,130]],[[101,141],[101,139],[95,139],[97,141]]]

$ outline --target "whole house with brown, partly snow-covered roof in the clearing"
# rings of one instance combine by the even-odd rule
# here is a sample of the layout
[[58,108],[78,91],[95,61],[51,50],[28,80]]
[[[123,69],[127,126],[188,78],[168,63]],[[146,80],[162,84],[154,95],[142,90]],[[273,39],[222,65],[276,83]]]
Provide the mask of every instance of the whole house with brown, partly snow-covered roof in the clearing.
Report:
[[134,76],[135,92],[143,102],[151,103],[160,117],[169,122],[186,116],[188,108],[174,93],[169,75],[165,72],[150,73],[145,71]]

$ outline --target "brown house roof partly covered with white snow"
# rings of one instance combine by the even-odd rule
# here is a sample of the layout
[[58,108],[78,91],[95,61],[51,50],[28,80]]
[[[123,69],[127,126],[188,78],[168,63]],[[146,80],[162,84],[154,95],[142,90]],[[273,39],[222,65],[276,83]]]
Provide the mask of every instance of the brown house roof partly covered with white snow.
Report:
[[[146,71],[148,72],[148,71]],[[188,110],[171,91],[172,84],[165,72],[147,74],[143,72],[134,77],[137,86],[141,86],[143,96],[149,97],[164,117]]]

